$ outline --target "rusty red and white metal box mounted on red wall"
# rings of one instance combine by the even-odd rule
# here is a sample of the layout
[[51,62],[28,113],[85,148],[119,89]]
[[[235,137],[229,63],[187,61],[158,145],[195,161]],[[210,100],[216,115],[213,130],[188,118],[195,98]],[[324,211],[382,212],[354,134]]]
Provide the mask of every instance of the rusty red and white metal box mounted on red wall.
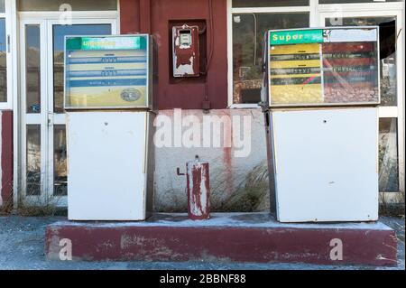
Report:
[[173,77],[200,76],[198,26],[172,27]]

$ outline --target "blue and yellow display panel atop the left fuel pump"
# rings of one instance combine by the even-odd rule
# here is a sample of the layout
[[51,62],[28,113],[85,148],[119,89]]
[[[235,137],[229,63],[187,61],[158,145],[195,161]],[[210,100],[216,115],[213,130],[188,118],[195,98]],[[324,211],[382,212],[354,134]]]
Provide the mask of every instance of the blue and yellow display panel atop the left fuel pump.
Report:
[[65,107],[148,107],[147,36],[67,37]]

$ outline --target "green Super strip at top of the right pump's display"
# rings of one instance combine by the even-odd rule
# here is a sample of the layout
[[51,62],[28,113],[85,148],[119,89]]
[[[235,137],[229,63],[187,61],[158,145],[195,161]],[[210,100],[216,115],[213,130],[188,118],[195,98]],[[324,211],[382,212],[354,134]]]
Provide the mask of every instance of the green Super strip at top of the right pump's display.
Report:
[[271,45],[306,44],[323,42],[323,30],[289,30],[270,33]]

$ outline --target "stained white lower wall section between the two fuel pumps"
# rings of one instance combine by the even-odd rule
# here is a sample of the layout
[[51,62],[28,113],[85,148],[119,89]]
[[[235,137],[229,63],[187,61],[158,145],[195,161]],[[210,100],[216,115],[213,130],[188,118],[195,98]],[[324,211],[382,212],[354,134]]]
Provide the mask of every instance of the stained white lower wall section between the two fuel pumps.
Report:
[[[178,115],[174,110],[161,110],[160,116],[157,117],[169,125],[170,123],[181,125],[180,120],[175,118]],[[195,159],[195,155],[199,156],[201,162],[209,163],[209,179],[210,179],[210,204],[213,209],[223,207],[231,200],[235,200],[237,193],[245,193],[244,186],[246,177],[259,164],[266,160],[265,146],[265,128],[263,125],[263,113],[261,109],[216,109],[210,110],[205,114],[202,110],[182,110],[181,118],[183,121],[188,117],[197,117],[198,121],[194,123],[198,125],[196,130],[203,131],[205,125],[204,116],[217,116],[222,119],[223,116],[239,116],[240,125],[231,125],[231,131],[224,130],[225,125],[221,125],[221,129],[213,129],[210,137],[216,137],[215,142],[220,144],[217,146],[202,145],[204,142],[204,133],[196,133],[198,146],[190,145],[185,147],[181,141],[181,135],[185,135],[190,125],[184,125],[182,131],[177,129],[168,129],[171,133],[171,141],[168,145],[155,147],[155,196],[154,210],[161,212],[169,211],[186,211],[187,210],[187,190],[186,178],[178,176],[176,169],[179,167],[180,172],[186,171],[186,163]],[[249,145],[242,144],[245,135],[239,134],[239,129],[245,125],[245,119],[250,119],[250,136],[245,137],[245,141],[249,138]],[[247,121],[247,120],[246,120]],[[206,122],[207,124],[207,122]],[[235,133],[238,129],[238,133]],[[157,132],[160,129],[157,128]],[[225,135],[231,134],[231,135]],[[178,136],[176,136],[178,134]],[[224,141],[224,139],[232,138],[239,135],[238,141]],[[179,137],[180,145],[173,145],[176,138]],[[231,145],[225,145],[225,143]],[[250,146],[252,149],[243,150],[243,146]],[[246,151],[247,153],[243,153]],[[237,153],[240,152],[240,153]],[[267,180],[266,180],[267,181]],[[240,189],[241,188],[241,189]],[[263,201],[263,207],[268,206],[267,201]],[[266,202],[266,203],[265,203]]]

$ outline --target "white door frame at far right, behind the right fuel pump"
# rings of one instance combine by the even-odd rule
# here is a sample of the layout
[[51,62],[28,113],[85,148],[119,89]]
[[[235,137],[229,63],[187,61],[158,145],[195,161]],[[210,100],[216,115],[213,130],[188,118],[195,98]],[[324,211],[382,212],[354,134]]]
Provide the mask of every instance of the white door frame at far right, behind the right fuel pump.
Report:
[[[396,16],[397,26],[396,33],[398,35],[396,59],[397,59],[397,107],[379,107],[379,117],[395,117],[397,118],[398,129],[398,167],[399,167],[399,191],[404,192],[404,180],[405,180],[405,163],[404,163],[404,122],[405,122],[405,85],[404,85],[404,3],[374,3],[374,4],[357,4],[357,5],[319,5],[319,23],[320,26],[325,25],[325,20],[328,17],[384,17],[384,16]],[[385,192],[388,200],[396,200],[399,193]],[[396,195],[394,195],[396,194]]]

